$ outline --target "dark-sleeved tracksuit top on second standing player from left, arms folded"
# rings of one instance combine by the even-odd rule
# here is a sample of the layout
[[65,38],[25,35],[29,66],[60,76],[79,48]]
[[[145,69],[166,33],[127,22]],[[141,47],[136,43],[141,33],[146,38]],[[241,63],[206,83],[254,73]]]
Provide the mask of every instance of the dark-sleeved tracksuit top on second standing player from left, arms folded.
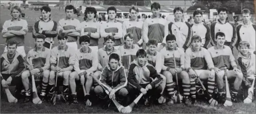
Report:
[[45,22],[43,19],[38,20],[37,22],[35,22],[35,25],[33,27],[33,38],[40,34],[39,30],[43,30],[42,34],[46,37],[45,42],[50,43],[50,38],[54,38],[58,34],[57,22],[53,21],[51,18],[47,22]]

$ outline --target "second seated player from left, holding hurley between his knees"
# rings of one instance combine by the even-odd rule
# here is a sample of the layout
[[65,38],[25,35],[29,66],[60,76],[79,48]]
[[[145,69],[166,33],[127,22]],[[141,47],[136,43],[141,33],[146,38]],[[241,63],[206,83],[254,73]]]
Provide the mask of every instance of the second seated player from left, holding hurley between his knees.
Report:
[[[50,74],[50,52],[51,50],[45,48],[44,44],[44,35],[38,35],[35,37],[35,48],[30,50],[27,55],[28,70],[25,70],[22,74],[22,83],[25,88],[25,99],[24,103],[27,103],[30,100],[31,90],[29,88],[28,77],[34,75],[35,77],[43,77],[42,81],[42,90],[40,94],[40,99],[45,100],[45,91],[48,85],[48,78]],[[30,59],[32,63],[30,63]]]

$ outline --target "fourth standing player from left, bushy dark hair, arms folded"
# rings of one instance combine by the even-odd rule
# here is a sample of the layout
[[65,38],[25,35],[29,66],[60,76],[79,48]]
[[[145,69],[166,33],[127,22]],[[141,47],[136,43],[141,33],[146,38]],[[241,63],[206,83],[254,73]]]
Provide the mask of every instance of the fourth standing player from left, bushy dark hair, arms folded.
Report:
[[95,7],[86,7],[84,16],[86,20],[81,22],[81,36],[87,35],[90,37],[90,44],[89,47],[93,50],[98,52],[98,39],[100,38],[99,33],[99,26],[96,18],[97,11]]

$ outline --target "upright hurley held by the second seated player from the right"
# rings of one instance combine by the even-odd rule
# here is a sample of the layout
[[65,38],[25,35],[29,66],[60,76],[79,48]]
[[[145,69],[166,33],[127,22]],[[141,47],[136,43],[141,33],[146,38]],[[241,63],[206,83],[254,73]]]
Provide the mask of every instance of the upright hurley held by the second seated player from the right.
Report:
[[224,76],[225,76],[225,82],[226,82],[226,101],[224,103],[225,107],[229,107],[232,106],[232,100],[231,100],[231,96],[230,96],[230,91],[229,91],[229,87],[228,87],[228,77],[227,77],[227,68],[224,68]]

